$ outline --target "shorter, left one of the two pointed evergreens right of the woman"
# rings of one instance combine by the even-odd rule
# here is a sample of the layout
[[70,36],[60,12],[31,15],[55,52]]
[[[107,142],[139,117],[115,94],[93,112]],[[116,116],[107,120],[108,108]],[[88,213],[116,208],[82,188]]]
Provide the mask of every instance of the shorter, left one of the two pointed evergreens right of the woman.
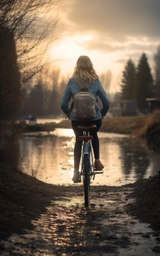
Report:
[[121,80],[121,98],[135,99],[135,65],[131,59],[125,65]]

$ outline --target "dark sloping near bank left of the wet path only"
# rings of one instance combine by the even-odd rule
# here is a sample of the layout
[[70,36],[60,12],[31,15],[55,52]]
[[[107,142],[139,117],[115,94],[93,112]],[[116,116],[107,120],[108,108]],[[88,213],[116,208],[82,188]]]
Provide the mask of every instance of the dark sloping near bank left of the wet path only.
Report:
[[[59,196],[60,195],[60,196]],[[59,187],[43,183],[10,167],[0,167],[0,240],[33,229],[51,203],[63,197]]]

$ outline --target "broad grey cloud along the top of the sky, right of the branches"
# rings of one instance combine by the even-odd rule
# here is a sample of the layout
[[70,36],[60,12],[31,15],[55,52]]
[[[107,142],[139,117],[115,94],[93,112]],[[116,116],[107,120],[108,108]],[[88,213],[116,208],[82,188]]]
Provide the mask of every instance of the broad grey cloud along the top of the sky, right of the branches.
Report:
[[159,37],[159,0],[72,0],[68,14],[74,33],[126,37]]

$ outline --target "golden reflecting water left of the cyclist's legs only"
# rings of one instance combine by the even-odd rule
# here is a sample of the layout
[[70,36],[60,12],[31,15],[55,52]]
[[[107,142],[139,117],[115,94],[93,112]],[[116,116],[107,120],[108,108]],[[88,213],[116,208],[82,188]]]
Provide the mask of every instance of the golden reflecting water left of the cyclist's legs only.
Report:
[[69,177],[69,171],[73,163],[69,160],[73,155],[70,157],[67,153],[73,151],[73,145],[73,139],[67,137],[22,137],[23,171],[48,183],[70,183],[73,173]]

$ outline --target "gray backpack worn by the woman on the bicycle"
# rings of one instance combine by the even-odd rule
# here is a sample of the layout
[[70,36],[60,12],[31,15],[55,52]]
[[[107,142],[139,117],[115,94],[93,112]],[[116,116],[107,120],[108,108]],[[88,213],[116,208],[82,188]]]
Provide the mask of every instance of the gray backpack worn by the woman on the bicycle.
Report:
[[93,93],[88,88],[91,83],[81,79],[79,75],[73,77],[81,91],[73,97],[73,117],[79,120],[91,120],[96,117],[97,103]]

